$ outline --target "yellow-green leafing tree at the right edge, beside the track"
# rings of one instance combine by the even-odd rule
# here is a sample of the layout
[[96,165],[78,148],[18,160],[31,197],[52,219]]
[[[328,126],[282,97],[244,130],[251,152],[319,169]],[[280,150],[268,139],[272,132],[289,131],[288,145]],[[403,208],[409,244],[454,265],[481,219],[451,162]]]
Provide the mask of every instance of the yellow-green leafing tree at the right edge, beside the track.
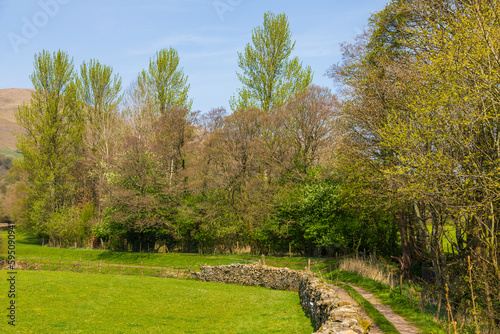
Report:
[[409,96],[410,112],[393,110],[382,132],[384,145],[395,152],[386,174],[399,181],[400,193],[431,208],[435,223],[430,251],[436,254],[438,278],[452,283],[440,242],[445,222],[452,221],[461,277],[455,298],[462,298],[467,288],[465,263],[470,255],[477,264],[473,274],[481,281],[476,293],[483,297],[492,324],[498,317],[494,291],[500,281],[498,5],[406,1],[422,20],[406,28],[411,38],[402,44],[413,50],[413,68],[424,80]]

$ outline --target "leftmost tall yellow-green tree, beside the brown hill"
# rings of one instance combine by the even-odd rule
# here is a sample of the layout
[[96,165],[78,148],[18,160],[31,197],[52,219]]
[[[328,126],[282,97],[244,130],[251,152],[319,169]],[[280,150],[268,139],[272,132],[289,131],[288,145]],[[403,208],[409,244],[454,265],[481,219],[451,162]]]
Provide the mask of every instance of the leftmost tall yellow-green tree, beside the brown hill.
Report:
[[17,146],[31,184],[29,226],[48,235],[53,215],[78,199],[85,123],[68,55],[43,51],[35,55],[34,66],[30,78],[35,91],[30,103],[16,113],[18,124],[25,129],[17,134]]

